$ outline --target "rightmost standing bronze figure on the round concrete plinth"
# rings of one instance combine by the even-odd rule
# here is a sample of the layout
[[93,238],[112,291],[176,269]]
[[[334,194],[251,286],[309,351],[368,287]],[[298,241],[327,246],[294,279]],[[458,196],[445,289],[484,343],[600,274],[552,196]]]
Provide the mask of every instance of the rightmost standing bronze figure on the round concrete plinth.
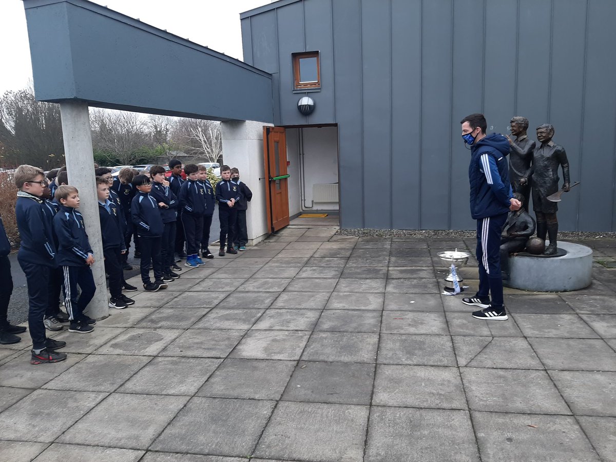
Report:
[[533,164],[520,179],[520,184],[528,184],[532,176],[533,210],[537,217],[537,236],[545,240],[549,236],[549,246],[544,255],[556,254],[556,237],[558,234],[558,203],[547,197],[558,191],[558,167],[562,168],[564,184],[562,190],[569,192],[569,160],[562,146],[554,144],[554,126],[543,124],[537,127],[537,140],[541,145],[533,150]]

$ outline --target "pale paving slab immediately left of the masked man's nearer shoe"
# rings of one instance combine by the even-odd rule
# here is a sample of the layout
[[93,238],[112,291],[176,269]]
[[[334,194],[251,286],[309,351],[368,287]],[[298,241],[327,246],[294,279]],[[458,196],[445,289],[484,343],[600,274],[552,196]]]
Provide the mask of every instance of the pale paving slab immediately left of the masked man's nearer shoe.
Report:
[[388,334],[447,335],[444,313],[415,311],[384,311],[381,332]]

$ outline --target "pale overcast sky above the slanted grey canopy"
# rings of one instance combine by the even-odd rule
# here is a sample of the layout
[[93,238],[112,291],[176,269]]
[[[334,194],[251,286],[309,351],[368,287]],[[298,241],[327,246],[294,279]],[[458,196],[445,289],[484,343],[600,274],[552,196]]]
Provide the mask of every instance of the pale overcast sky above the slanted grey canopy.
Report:
[[[182,38],[242,59],[240,13],[269,0],[94,0]],[[22,0],[0,0],[0,95],[32,79]]]

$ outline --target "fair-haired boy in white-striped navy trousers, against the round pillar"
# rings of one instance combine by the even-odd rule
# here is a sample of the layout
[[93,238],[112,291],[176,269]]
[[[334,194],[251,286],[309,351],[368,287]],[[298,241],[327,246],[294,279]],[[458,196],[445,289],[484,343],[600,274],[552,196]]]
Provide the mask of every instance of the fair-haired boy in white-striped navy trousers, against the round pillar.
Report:
[[[96,285],[91,266],[94,253],[87,239],[83,216],[79,208],[76,187],[61,185],[55,190],[60,210],[54,217],[54,232],[58,238],[58,264],[64,274],[64,305],[70,318],[69,332],[80,334],[94,330],[96,321],[84,314],[87,304],[94,298]],[[81,294],[77,294],[77,286]]]

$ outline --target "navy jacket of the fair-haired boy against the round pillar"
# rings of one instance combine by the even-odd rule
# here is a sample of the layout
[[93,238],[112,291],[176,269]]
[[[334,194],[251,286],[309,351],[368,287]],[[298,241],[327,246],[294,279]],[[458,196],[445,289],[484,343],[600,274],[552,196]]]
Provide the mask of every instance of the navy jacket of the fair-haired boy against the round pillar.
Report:
[[60,205],[54,217],[54,231],[58,238],[56,260],[62,266],[85,266],[87,254],[94,254],[87,240],[83,216],[72,207]]

